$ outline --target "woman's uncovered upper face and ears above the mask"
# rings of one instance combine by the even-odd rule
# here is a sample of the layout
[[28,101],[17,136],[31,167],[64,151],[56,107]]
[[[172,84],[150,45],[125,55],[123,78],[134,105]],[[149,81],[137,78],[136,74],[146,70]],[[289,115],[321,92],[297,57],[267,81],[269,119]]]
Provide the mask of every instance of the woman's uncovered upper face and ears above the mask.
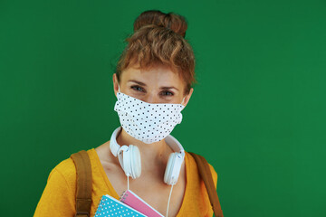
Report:
[[[117,95],[118,80],[113,75],[114,92]],[[120,75],[120,91],[133,98],[149,103],[177,103],[185,97],[187,105],[193,89],[185,96],[185,83],[177,73],[165,67],[155,67],[149,71],[129,67]]]

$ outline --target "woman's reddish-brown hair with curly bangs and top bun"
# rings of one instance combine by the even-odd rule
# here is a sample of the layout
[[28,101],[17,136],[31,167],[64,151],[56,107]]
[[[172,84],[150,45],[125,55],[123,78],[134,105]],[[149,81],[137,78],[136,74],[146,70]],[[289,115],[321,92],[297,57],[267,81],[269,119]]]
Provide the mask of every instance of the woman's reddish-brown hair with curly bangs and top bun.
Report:
[[122,71],[137,66],[149,70],[168,67],[185,81],[188,93],[195,79],[195,56],[185,40],[187,22],[178,14],[146,11],[134,22],[134,33],[126,39],[128,45],[117,64],[117,78]]

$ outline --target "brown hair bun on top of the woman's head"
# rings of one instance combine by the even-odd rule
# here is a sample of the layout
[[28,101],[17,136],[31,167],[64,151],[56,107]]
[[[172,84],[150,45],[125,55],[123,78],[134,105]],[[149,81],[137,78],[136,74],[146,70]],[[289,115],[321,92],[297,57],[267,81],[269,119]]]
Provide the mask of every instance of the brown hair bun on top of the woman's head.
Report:
[[187,21],[185,17],[179,14],[165,14],[158,10],[145,11],[136,18],[134,22],[134,32],[149,24],[168,28],[177,34],[180,34],[182,37],[186,36]]

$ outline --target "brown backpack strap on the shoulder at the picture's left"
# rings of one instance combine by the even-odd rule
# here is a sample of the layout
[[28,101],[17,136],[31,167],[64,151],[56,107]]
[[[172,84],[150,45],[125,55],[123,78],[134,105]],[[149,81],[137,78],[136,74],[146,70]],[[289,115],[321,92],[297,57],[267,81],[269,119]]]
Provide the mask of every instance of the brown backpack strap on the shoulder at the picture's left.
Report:
[[72,154],[72,161],[76,166],[76,215],[90,217],[91,212],[91,161],[87,152],[82,150]]

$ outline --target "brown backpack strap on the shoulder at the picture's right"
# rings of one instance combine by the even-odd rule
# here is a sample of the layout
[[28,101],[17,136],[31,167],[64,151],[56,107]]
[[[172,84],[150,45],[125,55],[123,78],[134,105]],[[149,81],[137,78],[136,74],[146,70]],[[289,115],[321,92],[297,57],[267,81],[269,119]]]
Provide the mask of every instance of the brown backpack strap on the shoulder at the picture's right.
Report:
[[205,183],[209,201],[213,207],[213,211],[214,211],[216,217],[223,217],[223,212],[221,209],[221,204],[219,203],[219,200],[218,200],[212,173],[210,171],[210,168],[209,168],[209,165],[208,165],[206,159],[204,158],[204,156],[199,156],[199,155],[197,155],[195,153],[191,153],[191,152],[188,152],[188,153],[195,158],[199,174]]

